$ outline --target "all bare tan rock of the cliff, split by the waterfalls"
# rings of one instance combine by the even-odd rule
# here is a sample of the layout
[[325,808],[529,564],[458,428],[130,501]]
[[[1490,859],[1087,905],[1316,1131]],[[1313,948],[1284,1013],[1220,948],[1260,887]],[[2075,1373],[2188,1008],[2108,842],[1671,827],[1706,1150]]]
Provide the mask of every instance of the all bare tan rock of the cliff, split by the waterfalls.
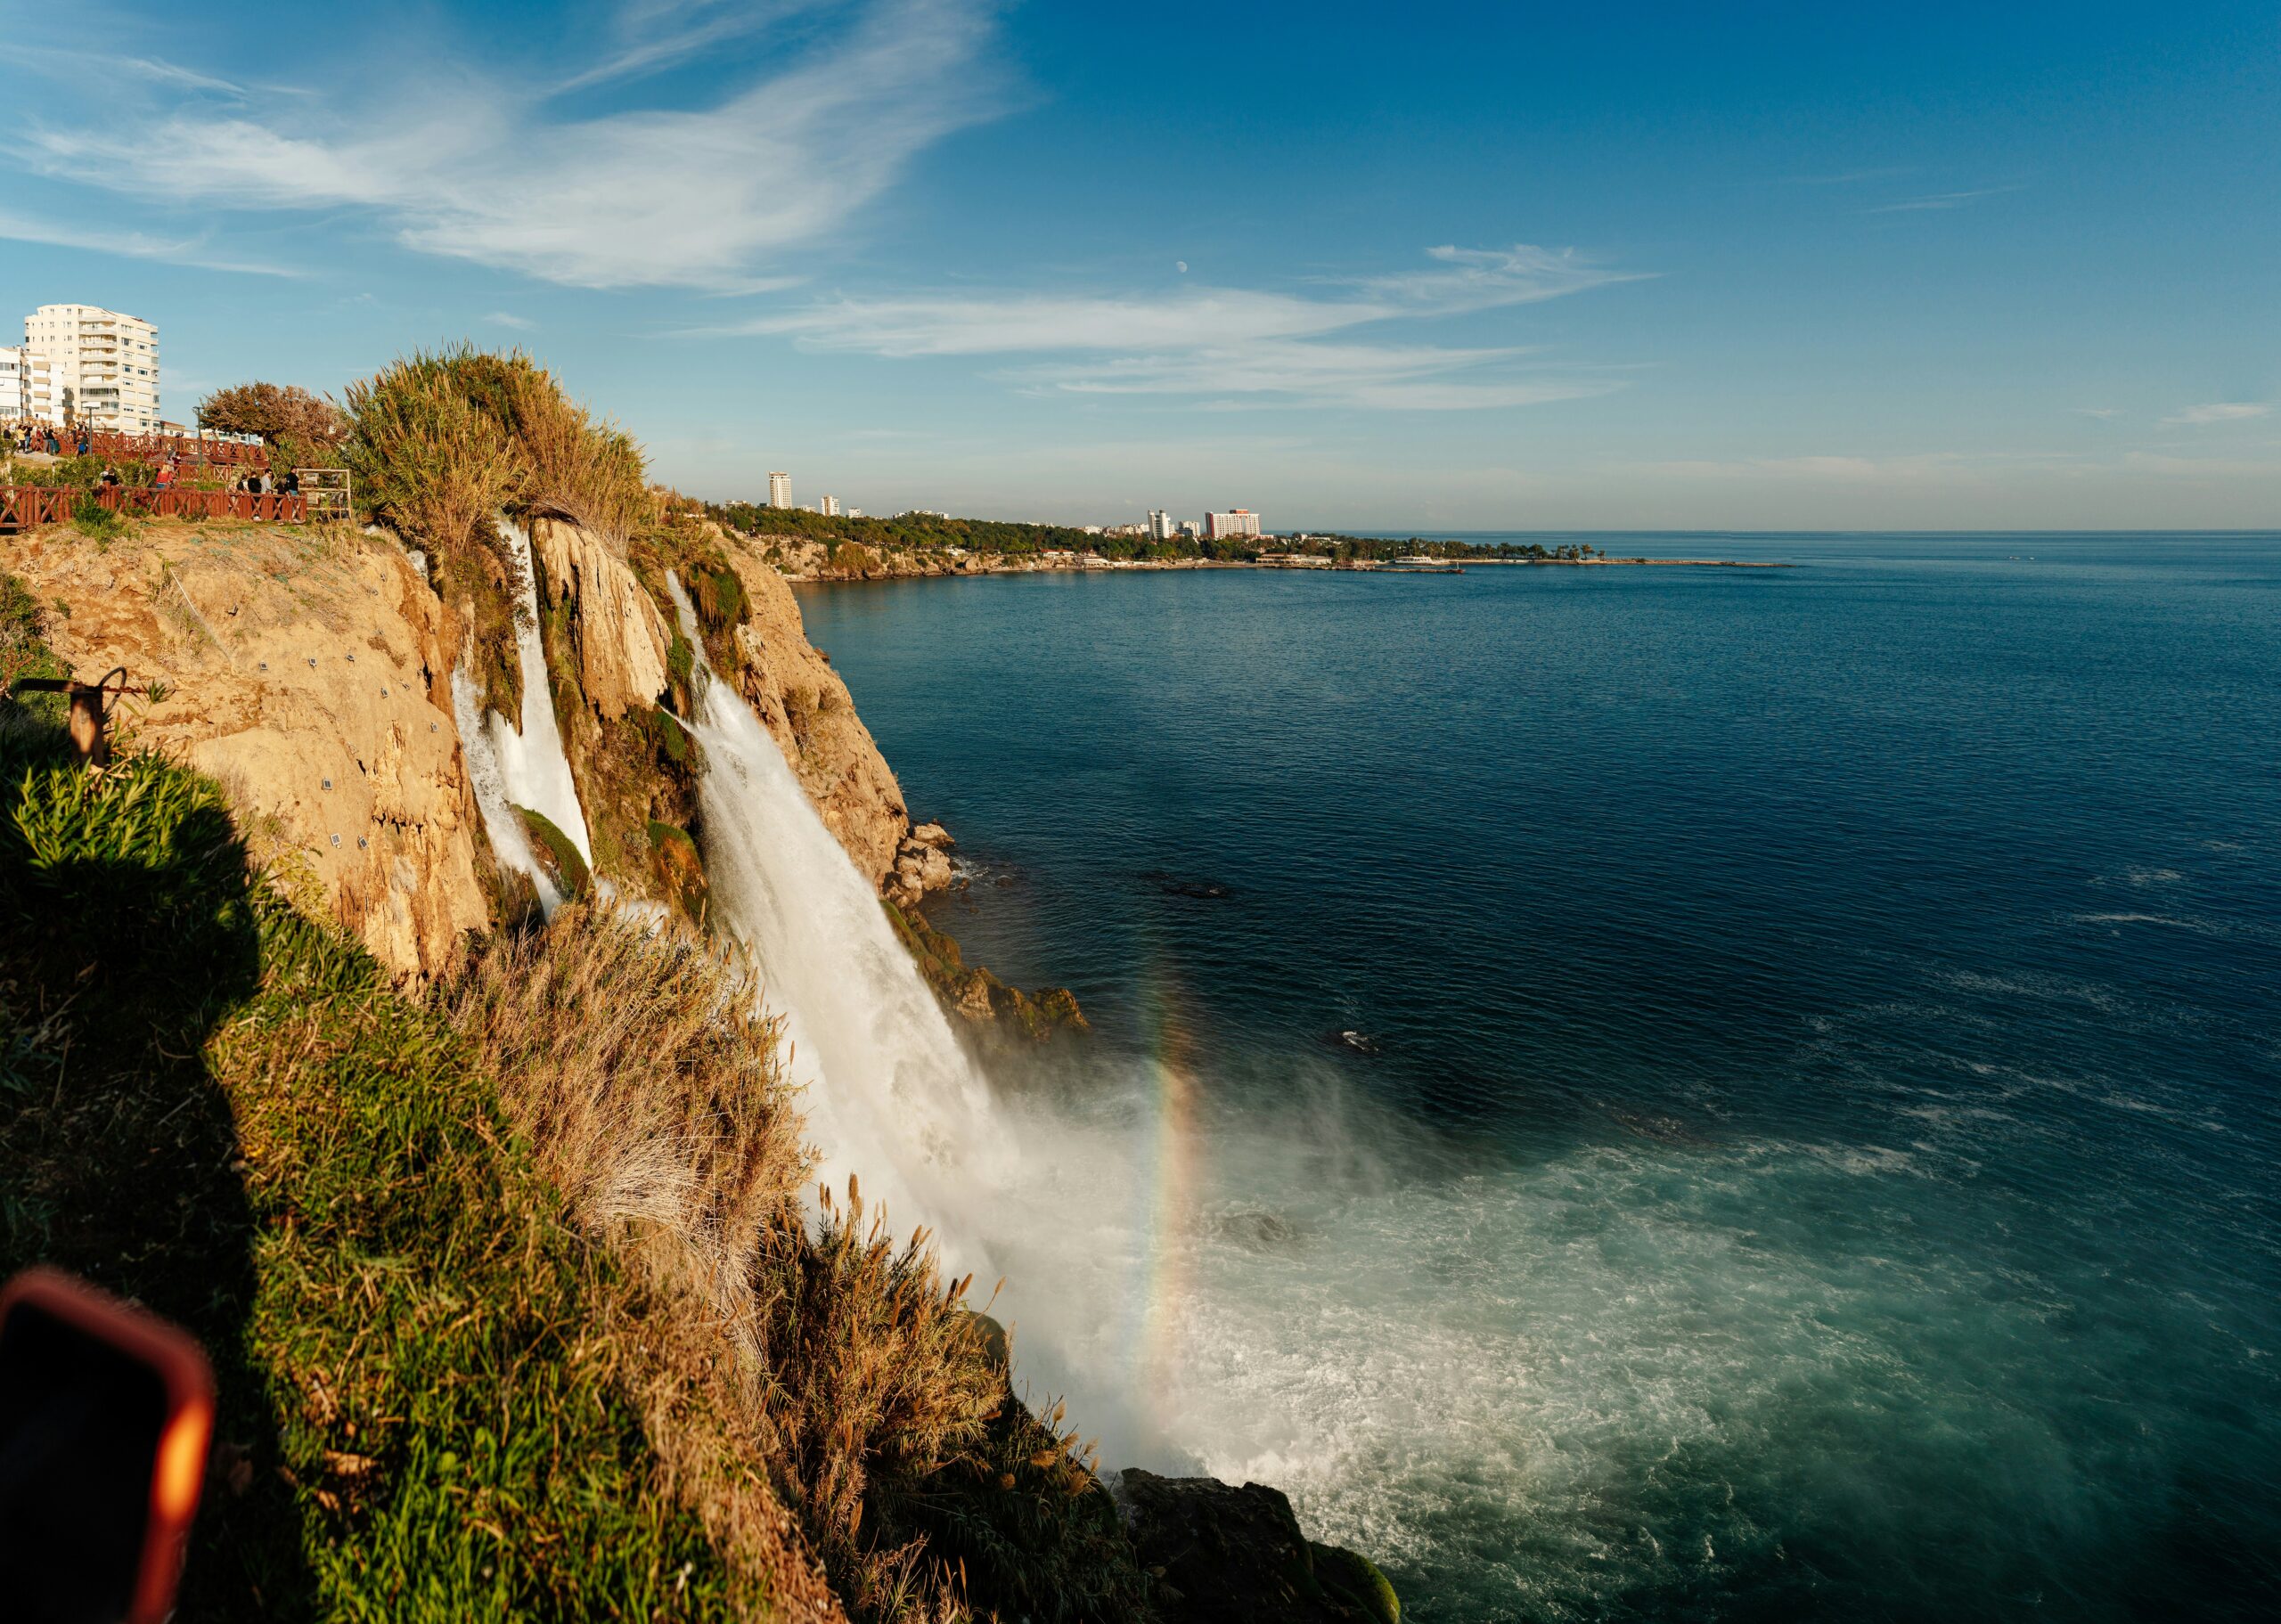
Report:
[[[949,835],[912,830],[901,785],[846,684],[801,630],[760,554],[721,536],[741,584],[732,671],[823,823],[906,906],[949,883]],[[538,518],[531,552],[547,618],[557,714],[604,878],[671,896],[693,794],[677,734],[675,630],[625,550]],[[488,853],[447,687],[447,641],[474,616],[447,607],[385,534],[349,527],[153,525],[109,547],[71,531],[0,559],[52,609],[52,641],[89,680],[125,666],[162,698],[121,723],[214,773],[265,862],[285,869],[399,976],[445,974],[493,921]],[[661,762],[661,766],[657,766]],[[659,851],[664,848],[664,851]]]

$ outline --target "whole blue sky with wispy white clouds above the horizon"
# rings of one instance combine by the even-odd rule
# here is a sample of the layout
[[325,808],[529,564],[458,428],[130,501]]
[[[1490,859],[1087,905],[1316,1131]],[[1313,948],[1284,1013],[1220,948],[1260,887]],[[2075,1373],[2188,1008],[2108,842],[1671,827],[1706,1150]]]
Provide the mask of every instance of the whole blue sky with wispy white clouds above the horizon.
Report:
[[867,511],[2281,525],[2281,7],[0,0],[0,310]]

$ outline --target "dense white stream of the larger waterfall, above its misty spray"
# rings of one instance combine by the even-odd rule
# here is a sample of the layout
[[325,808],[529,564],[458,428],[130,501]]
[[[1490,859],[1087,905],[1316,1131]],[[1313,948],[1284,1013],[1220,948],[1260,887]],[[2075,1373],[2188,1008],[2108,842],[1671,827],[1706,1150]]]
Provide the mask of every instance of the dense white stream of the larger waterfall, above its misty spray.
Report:
[[935,994],[880,910],[878,894],[807,803],[776,739],[705,661],[680,582],[673,602],[698,648],[705,750],[698,805],[719,919],[762,974],[785,1017],[821,1175],[860,1175],[896,1227],[924,1223],[944,1264],[990,1280],[981,1204],[1008,1163],[990,1093]]

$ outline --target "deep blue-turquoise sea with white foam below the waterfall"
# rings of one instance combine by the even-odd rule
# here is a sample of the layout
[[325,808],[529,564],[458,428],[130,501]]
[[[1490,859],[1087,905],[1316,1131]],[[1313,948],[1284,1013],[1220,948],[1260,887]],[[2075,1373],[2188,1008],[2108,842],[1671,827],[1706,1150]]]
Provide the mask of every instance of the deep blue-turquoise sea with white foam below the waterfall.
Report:
[[803,591],[1195,1074],[1104,1318],[1419,1619],[2272,1617],[2281,538],[1594,543],[1800,568]]

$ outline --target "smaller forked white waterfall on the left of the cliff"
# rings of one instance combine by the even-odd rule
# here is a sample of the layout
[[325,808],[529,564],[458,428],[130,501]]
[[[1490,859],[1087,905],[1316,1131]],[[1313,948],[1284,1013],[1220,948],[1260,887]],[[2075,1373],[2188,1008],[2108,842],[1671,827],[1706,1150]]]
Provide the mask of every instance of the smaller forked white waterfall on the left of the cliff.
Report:
[[522,607],[516,614],[522,728],[518,730],[500,712],[477,716],[468,659],[461,659],[458,671],[452,673],[452,718],[458,723],[468,780],[474,787],[474,805],[484,814],[484,833],[490,837],[493,855],[509,869],[527,874],[538,887],[538,906],[552,915],[563,896],[531,853],[516,807],[529,807],[559,828],[577,846],[577,855],[586,860],[588,869],[593,867],[593,846],[586,842],[586,812],[577,803],[577,780],[570,778],[563,734],[554,723],[554,689],[547,682],[545,643],[538,639],[538,575],[531,568],[531,536],[502,515],[500,541],[506,543],[522,573]]

